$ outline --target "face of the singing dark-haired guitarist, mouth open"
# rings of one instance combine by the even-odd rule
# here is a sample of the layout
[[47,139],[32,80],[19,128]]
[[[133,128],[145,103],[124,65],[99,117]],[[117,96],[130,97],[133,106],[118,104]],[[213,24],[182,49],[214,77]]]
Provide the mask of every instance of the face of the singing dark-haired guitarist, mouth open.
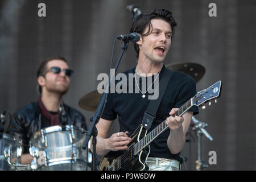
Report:
[[[139,44],[139,59],[162,63],[171,46],[171,25],[163,19],[151,19],[152,32],[142,36]],[[146,33],[148,28],[143,32]]]

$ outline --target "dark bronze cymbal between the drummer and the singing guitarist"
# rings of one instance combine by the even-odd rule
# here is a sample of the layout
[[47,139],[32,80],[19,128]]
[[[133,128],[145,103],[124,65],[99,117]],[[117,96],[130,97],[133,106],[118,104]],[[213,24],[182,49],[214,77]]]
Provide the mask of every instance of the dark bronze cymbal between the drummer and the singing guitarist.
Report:
[[98,93],[98,90],[93,90],[92,92],[85,94],[79,100],[79,106],[82,109],[89,111],[96,111],[98,107],[98,102],[100,102],[101,94]]

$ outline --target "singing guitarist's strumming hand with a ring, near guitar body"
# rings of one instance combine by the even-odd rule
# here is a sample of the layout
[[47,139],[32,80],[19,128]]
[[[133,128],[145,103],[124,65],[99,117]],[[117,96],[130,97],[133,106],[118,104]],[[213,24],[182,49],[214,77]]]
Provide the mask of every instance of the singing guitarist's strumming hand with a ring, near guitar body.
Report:
[[128,131],[114,133],[110,138],[106,141],[106,150],[118,151],[125,150],[127,148],[127,144],[130,143],[131,138],[128,137]]

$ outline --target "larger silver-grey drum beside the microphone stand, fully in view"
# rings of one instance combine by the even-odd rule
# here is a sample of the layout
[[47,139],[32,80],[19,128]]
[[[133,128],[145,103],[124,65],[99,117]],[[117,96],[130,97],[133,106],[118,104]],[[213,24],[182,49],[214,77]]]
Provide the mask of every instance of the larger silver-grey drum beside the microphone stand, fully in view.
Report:
[[86,133],[73,125],[51,126],[42,129],[30,139],[30,155],[34,170],[86,170],[86,150],[82,144]]

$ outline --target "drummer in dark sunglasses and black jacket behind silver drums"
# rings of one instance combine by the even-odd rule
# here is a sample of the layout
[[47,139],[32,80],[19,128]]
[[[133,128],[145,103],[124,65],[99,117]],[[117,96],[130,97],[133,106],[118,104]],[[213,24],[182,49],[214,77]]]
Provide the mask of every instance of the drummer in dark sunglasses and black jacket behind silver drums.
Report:
[[85,117],[76,109],[65,105],[62,97],[68,92],[73,71],[64,57],[51,57],[44,60],[37,72],[37,102],[22,107],[13,119],[11,134],[23,142],[21,164],[30,164],[30,138],[43,128],[55,125],[74,125],[86,130]]

